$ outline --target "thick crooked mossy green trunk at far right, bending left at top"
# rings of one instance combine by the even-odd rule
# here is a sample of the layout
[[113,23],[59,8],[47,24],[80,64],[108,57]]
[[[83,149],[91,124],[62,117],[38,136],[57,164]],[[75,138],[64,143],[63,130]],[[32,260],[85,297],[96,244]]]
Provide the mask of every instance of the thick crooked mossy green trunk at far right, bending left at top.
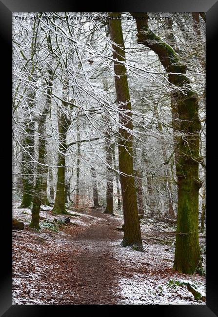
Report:
[[181,64],[173,48],[163,42],[148,28],[146,13],[132,13],[136,20],[138,43],[152,49],[168,73],[168,80],[174,87],[173,98],[177,102],[181,120],[179,140],[178,176],[178,221],[174,269],[181,273],[193,274],[201,268],[198,238],[198,178],[199,131],[198,96],[192,91],[190,81],[185,76],[186,66]]

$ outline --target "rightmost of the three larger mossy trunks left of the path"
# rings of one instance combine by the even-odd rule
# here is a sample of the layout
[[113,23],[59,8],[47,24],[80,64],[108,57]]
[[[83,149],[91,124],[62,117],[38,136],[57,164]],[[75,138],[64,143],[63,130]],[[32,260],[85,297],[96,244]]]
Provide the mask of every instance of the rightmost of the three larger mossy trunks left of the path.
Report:
[[[69,80],[63,79],[63,100],[67,99]],[[65,154],[67,151],[66,137],[67,131],[71,124],[71,120],[68,119],[65,109],[66,103],[62,102],[62,108],[58,114],[58,126],[59,126],[59,154],[58,154],[58,179],[56,187],[55,203],[52,210],[55,214],[67,214],[65,209]]]

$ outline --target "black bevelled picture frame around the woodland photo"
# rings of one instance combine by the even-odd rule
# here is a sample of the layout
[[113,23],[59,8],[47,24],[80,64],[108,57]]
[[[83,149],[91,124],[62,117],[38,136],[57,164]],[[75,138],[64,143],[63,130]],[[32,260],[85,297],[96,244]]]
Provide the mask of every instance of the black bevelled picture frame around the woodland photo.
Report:
[[[215,49],[215,43],[217,43],[216,39],[218,38],[218,0],[153,0],[149,1],[149,3],[144,3],[141,0],[135,0],[134,3],[132,0],[124,0],[115,1],[112,0],[110,3],[104,3],[104,7],[102,8],[99,4],[89,3],[85,7],[81,7],[79,3],[72,3],[71,1],[61,1],[61,0],[47,0],[46,3],[43,0],[38,0],[35,2],[34,0],[0,0],[0,35],[1,39],[1,54],[3,64],[7,65],[7,69],[5,72],[1,71],[1,77],[3,77],[3,89],[2,95],[4,95],[5,91],[9,90],[7,97],[11,95],[12,92],[12,12],[80,12],[85,10],[85,12],[129,12],[129,11],[137,11],[137,12],[206,12],[206,116],[209,121],[207,127],[207,137],[206,137],[206,156],[207,156],[207,170],[206,170],[206,189],[207,189],[207,210],[209,210],[206,217],[207,224],[207,234],[206,234],[206,305],[142,305],[141,308],[147,311],[147,309],[152,309],[152,313],[160,314],[161,316],[169,316],[169,317],[215,317],[218,316],[218,297],[216,296],[217,292],[217,283],[215,282],[217,277],[217,262],[213,257],[215,252],[215,248],[213,245],[213,241],[215,241],[216,231],[217,231],[217,222],[215,221],[215,213],[214,207],[212,206],[213,201],[215,202],[216,195],[216,183],[215,186],[209,186],[209,179],[213,177],[216,163],[218,162],[218,155],[212,154],[211,149],[215,148],[215,144],[213,141],[213,137],[216,138],[215,128],[217,122],[213,122],[215,118],[218,118],[215,115],[215,110],[217,107],[213,107],[211,109],[210,105],[215,104],[215,100],[217,99],[217,84],[216,81],[213,81],[211,75],[212,70],[217,74],[215,70],[215,66],[217,65],[217,50]],[[2,63],[1,63],[2,65]],[[216,85],[216,86],[215,86]],[[215,96],[216,94],[216,96]],[[215,99],[216,98],[216,99]],[[7,98],[8,99],[8,98]],[[6,102],[8,106],[6,107],[3,103],[4,115],[2,115],[2,119],[8,116],[9,122],[11,118],[11,105],[10,101]],[[211,109],[211,111],[210,111]],[[5,116],[6,114],[6,116]],[[6,191],[9,192],[9,197],[11,196],[10,189],[12,189],[12,178],[7,173],[8,162],[11,161],[12,149],[11,149],[11,137],[10,133],[5,133],[5,130],[2,128],[2,138],[3,140],[3,155],[1,157],[1,166],[3,174],[3,185],[6,188]],[[9,140],[7,140],[7,138]],[[216,140],[216,139],[215,139]],[[5,168],[4,168],[5,166]],[[213,177],[212,180],[214,180]],[[6,198],[3,197],[3,202],[8,202]],[[216,203],[216,202],[215,202]],[[48,312],[51,313],[51,309],[55,308],[55,313],[63,313],[66,312],[66,309],[69,313],[75,312],[75,305],[12,305],[12,234],[11,234],[11,213],[7,212],[8,204],[5,204],[5,208],[2,208],[3,216],[6,219],[2,220],[3,227],[5,227],[4,232],[4,241],[7,243],[3,243],[5,247],[5,256],[2,259],[3,268],[1,272],[3,272],[3,278],[1,279],[0,284],[0,316],[4,317],[37,317],[37,316],[45,316]],[[6,224],[6,226],[4,225]],[[79,306],[79,309],[83,308],[83,306],[94,306],[101,307],[102,305],[76,305]],[[105,306],[105,305],[103,305]],[[117,306],[122,309],[122,312],[125,311],[123,308],[129,306],[138,306],[138,305],[106,305],[107,307]],[[60,310],[61,309],[61,310]],[[102,309],[101,309],[102,311]],[[82,311],[80,310],[80,313]],[[217,314],[217,315],[215,315]]]

